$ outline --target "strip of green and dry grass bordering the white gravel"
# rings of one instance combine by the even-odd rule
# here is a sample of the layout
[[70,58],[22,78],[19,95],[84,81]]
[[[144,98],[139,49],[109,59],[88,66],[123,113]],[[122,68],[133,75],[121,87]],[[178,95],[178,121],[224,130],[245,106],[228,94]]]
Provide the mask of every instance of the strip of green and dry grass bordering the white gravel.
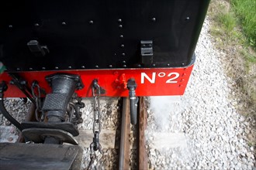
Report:
[[[210,33],[222,51],[240,114],[256,120],[256,0],[212,0]],[[254,124],[255,126],[255,124]],[[249,141],[255,143],[256,135]]]

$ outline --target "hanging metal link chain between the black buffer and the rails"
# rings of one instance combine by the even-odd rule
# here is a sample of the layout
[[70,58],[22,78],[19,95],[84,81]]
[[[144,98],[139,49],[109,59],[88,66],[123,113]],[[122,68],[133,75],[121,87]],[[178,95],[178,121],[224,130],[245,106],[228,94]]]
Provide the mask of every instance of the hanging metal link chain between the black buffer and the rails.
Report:
[[92,84],[92,96],[93,96],[93,124],[92,131],[94,138],[90,145],[90,162],[87,169],[92,168],[92,164],[95,162],[97,156],[95,151],[99,151],[103,155],[102,145],[99,143],[99,134],[102,131],[102,124],[100,122],[101,112],[100,112],[100,102],[99,97],[101,96],[100,87],[98,80],[93,80]]

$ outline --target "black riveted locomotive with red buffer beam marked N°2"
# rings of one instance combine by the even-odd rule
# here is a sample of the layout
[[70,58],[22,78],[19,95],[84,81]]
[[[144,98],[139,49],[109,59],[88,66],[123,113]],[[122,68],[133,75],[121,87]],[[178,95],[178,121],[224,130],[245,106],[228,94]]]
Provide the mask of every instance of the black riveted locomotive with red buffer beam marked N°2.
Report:
[[[57,149],[48,144],[78,145],[73,137],[82,122],[82,97],[129,97],[136,124],[137,97],[182,95],[209,0],[0,4],[0,110],[43,153]],[[4,97],[31,100],[36,121],[16,121]],[[0,151],[14,147],[5,144]],[[67,160],[74,162],[77,155],[71,155]],[[0,156],[4,168],[18,164],[5,158]]]

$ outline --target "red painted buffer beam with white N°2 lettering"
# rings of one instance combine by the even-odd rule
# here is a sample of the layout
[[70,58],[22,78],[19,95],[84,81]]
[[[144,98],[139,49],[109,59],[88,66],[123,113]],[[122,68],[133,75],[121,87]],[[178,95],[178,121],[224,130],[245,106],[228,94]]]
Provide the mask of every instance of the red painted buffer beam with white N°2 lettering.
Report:
[[[33,80],[37,80],[47,93],[50,93],[50,86],[45,76],[53,73],[79,74],[85,87],[76,92],[80,97],[92,97],[92,80],[98,79],[99,86],[106,90],[103,96],[127,97],[128,90],[126,82],[134,78],[137,82],[137,96],[168,96],[182,95],[189,81],[192,67],[183,68],[156,68],[156,69],[119,69],[119,70],[60,70],[60,71],[29,71],[21,72],[21,76],[28,82],[29,87]],[[0,75],[0,80],[7,83],[11,80],[7,73]],[[9,84],[5,97],[25,97],[15,86]]]

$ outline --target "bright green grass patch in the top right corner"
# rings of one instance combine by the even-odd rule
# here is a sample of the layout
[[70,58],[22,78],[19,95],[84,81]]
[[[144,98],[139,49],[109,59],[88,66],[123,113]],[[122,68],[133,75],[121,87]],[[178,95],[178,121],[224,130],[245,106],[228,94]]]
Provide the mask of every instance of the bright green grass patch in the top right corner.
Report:
[[251,46],[256,49],[256,0],[231,0]]

